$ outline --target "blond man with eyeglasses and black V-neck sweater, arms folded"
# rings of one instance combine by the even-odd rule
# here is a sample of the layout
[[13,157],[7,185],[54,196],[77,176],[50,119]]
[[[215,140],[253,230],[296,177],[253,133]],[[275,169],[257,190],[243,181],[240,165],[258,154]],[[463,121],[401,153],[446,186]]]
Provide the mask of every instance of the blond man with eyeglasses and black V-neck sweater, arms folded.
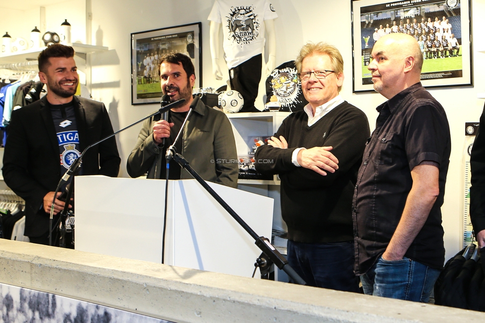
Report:
[[280,175],[291,267],[310,286],[359,292],[351,205],[369,124],[339,95],[343,59],[335,47],[307,44],[296,66],[309,104],[256,150],[256,170]]

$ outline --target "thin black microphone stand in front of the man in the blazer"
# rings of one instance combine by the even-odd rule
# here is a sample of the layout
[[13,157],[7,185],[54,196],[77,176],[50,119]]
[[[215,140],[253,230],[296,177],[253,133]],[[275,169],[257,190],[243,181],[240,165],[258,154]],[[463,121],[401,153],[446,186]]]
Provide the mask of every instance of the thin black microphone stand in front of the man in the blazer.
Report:
[[[137,122],[135,122],[134,124],[131,124],[130,126],[128,127],[125,127],[121,130],[118,130],[114,133],[111,133],[110,135],[90,144],[89,146],[87,146],[81,153],[81,156],[79,156],[72,164],[71,166],[69,167],[69,169],[67,170],[67,172],[64,174],[64,176],[61,178],[61,180],[59,181],[59,184],[57,186],[57,189],[56,189],[56,192],[54,194],[54,198],[52,200],[52,205],[51,205],[51,213],[50,213],[50,217],[49,217],[49,246],[52,246],[52,219],[54,217],[54,202],[57,198],[57,192],[59,192],[60,188],[63,186],[64,183],[66,183],[67,181],[69,181],[69,179],[71,178],[71,176],[73,174],[75,174],[77,171],[78,171],[78,168],[81,166],[82,164],[82,156],[84,156],[84,154],[86,153],[86,151],[91,148],[92,146],[95,146],[99,143],[101,143],[102,141],[106,140],[106,139],[109,139],[115,135],[117,135],[118,133],[120,133],[121,131],[124,131],[128,128],[131,128],[135,125],[138,125],[139,123],[161,113],[163,114],[164,112],[170,110],[171,108],[173,108],[173,106],[177,106],[178,104],[184,102],[185,99],[180,99],[180,100],[177,100],[177,101],[174,101],[172,103],[169,103],[167,105],[164,105],[162,106],[162,108],[160,108],[157,112],[154,112],[152,113],[150,116],[148,117],[145,117],[143,118],[142,120],[139,120]],[[68,208],[69,208],[69,202],[70,202],[70,199],[71,199],[71,195],[73,193],[73,190],[74,190],[74,185],[70,185],[69,186],[69,190],[68,190],[68,193],[67,193],[67,198],[66,198],[66,204],[64,205],[64,208],[63,210],[61,211],[60,213],[60,219],[61,219],[61,223],[60,223],[60,229],[61,229],[61,237],[60,239],[63,239],[64,240],[64,236],[62,236],[63,232],[65,233],[66,232],[66,218],[67,218],[67,214],[68,214]],[[61,240],[60,240],[61,241]]]

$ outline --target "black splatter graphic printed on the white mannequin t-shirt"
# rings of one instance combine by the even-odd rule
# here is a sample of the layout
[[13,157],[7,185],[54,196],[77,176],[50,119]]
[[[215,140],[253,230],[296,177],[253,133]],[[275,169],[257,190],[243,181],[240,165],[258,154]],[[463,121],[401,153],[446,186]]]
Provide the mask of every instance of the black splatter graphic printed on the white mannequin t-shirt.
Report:
[[227,18],[229,29],[228,39],[233,39],[238,44],[249,44],[259,35],[259,22],[254,13],[253,6],[231,7]]

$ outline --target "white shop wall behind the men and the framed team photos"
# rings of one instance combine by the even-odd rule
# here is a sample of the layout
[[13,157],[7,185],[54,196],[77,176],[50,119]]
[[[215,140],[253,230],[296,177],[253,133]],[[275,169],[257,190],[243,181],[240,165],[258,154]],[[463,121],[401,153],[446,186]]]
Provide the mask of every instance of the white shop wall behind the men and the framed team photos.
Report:
[[[57,11],[57,17],[47,16],[49,19],[55,19],[56,24],[60,24],[65,18],[74,19],[67,16],[67,13],[79,15],[84,19],[84,12],[80,11],[79,3],[78,0],[63,2],[63,9]],[[197,75],[197,77],[202,77],[204,87],[218,88],[225,84],[224,80],[216,81],[211,75],[207,16],[212,3],[213,0],[92,0],[92,43],[107,46],[110,49],[106,53],[91,56],[92,95],[94,99],[103,101],[108,107],[115,130],[130,125],[157,109],[157,105],[131,105],[130,33],[132,32],[202,21],[203,75]],[[373,129],[377,118],[375,108],[385,99],[377,93],[352,93],[350,3],[351,1],[330,0],[273,1],[273,6],[279,15],[275,20],[276,64],[294,59],[300,47],[307,41],[326,41],[335,45],[341,51],[345,62],[346,79],[341,94],[367,114]],[[54,9],[51,10],[54,12]],[[484,19],[480,15],[485,12],[485,0],[473,0],[472,10],[474,43],[475,47],[480,47],[485,40],[483,33],[480,32],[485,28]],[[0,21],[0,30],[5,28]],[[13,33],[14,29],[11,29],[10,33]],[[442,207],[447,258],[461,249],[464,125],[465,122],[478,121],[484,106],[484,100],[478,99],[477,94],[485,92],[485,78],[481,73],[485,66],[485,54],[478,53],[477,48],[474,48],[473,60],[474,87],[430,90],[444,106],[452,134],[450,168],[445,203]],[[227,72],[225,79],[227,79]],[[261,89],[256,102],[262,102]],[[122,157],[120,176],[122,177],[128,176],[125,163],[135,145],[139,129],[139,126],[135,126],[119,135],[118,144]]]

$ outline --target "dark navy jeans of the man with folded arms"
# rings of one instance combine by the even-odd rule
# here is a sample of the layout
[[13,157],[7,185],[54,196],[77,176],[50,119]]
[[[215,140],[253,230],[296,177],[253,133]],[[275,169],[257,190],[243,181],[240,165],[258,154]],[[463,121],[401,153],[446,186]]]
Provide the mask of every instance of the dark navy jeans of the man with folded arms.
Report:
[[288,264],[308,286],[359,293],[351,241],[302,243],[288,240]]

